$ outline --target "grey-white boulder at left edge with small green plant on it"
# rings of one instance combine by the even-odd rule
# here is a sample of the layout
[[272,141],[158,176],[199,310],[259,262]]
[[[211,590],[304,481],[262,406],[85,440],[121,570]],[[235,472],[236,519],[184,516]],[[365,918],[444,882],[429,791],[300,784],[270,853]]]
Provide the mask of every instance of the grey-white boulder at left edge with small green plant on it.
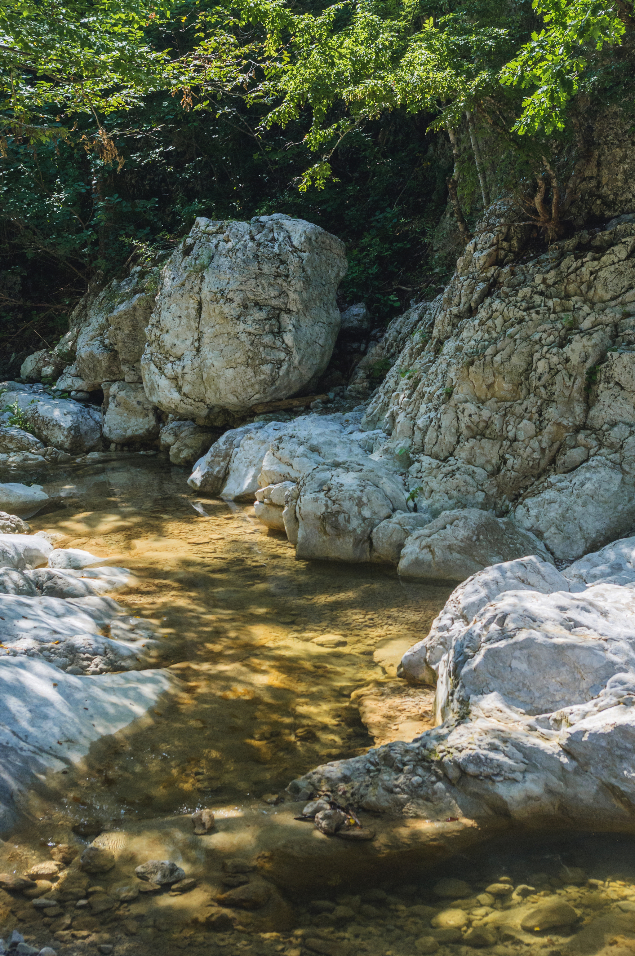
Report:
[[25,424],[45,445],[62,451],[90,451],[101,438],[101,410],[72,399],[55,399],[41,389],[14,387],[3,394],[8,404],[17,402]]

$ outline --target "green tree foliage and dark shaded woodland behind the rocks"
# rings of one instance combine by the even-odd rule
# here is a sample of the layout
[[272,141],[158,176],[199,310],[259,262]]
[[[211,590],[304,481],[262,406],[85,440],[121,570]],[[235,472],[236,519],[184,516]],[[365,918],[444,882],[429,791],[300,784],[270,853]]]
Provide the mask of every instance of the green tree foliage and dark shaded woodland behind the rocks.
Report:
[[576,96],[632,97],[629,11],[0,0],[0,346],[53,344],[89,281],[168,252],[196,215],[336,232],[342,304],[386,321],[451,266],[448,181],[468,227],[523,178],[548,192]]

